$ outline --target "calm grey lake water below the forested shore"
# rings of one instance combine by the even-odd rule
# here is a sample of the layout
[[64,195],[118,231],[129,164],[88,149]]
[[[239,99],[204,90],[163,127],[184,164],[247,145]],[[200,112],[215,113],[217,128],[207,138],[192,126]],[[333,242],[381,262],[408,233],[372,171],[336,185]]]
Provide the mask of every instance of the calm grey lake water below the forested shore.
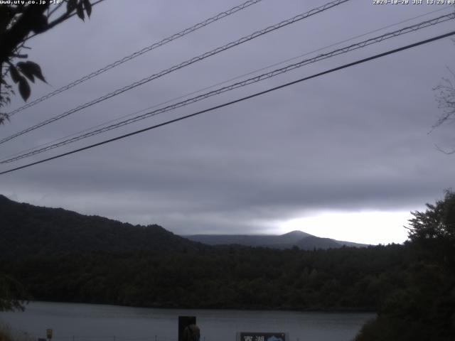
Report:
[[53,329],[53,341],[176,341],[178,316],[196,316],[201,341],[235,341],[236,332],[288,332],[290,341],[348,341],[372,313],[130,308],[33,302],[0,322],[33,337]]

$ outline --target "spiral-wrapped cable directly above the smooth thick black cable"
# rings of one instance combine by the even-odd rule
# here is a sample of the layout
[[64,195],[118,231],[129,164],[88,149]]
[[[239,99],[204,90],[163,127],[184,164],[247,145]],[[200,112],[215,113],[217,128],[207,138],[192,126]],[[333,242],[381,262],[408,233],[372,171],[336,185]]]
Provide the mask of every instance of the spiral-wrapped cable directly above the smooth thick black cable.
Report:
[[331,57],[334,57],[336,55],[341,55],[343,53],[348,53],[348,52],[353,51],[353,50],[358,50],[359,48],[364,48],[365,46],[372,45],[374,43],[380,43],[383,40],[386,40],[386,39],[389,39],[389,38],[394,38],[394,37],[397,37],[397,36],[401,36],[402,34],[414,32],[414,31],[417,31],[417,30],[422,29],[422,28],[427,28],[429,26],[434,26],[434,25],[437,25],[438,23],[442,23],[444,21],[449,21],[449,20],[454,19],[454,18],[455,18],[455,13],[450,13],[450,14],[446,14],[444,16],[439,16],[438,18],[433,18],[433,19],[428,20],[428,21],[423,21],[422,23],[417,23],[417,24],[415,24],[413,26],[401,28],[400,30],[397,30],[397,31],[393,31],[393,32],[390,32],[390,33],[385,33],[382,36],[378,36],[378,37],[375,37],[375,38],[370,38],[368,40],[363,40],[360,43],[355,43],[355,44],[348,45],[348,46],[343,47],[343,48],[338,48],[338,49],[333,50],[333,51],[331,51],[329,53],[323,53],[321,55],[317,55],[314,58],[301,60],[299,63],[294,63],[294,64],[291,64],[291,65],[287,65],[287,66],[279,68],[277,70],[273,70],[271,72],[267,72],[267,73],[264,73],[262,75],[251,77],[251,78],[249,78],[247,80],[243,80],[241,82],[236,82],[236,83],[234,83],[232,85],[228,85],[226,87],[220,87],[217,90],[213,90],[213,91],[207,92],[205,94],[200,94],[200,95],[198,95],[196,97],[192,97],[190,99],[183,100],[182,102],[178,102],[176,104],[171,104],[171,105],[168,105],[167,107],[163,107],[161,109],[156,109],[156,110],[154,110],[152,112],[147,112],[147,113],[141,114],[141,115],[139,115],[137,117],[132,117],[131,119],[126,119],[126,120],[120,121],[120,122],[118,122],[116,124],[111,124],[109,126],[105,126],[103,128],[87,132],[86,134],[81,134],[81,135],[75,136],[75,137],[73,137],[71,139],[66,139],[64,141],[60,141],[60,142],[58,142],[56,144],[51,144],[50,146],[46,146],[46,147],[43,147],[43,148],[38,148],[38,149],[36,149],[34,151],[30,151],[28,153],[22,153],[19,156],[14,156],[12,158],[8,158],[8,159],[6,159],[4,161],[1,161],[0,163],[11,163],[13,161],[18,161],[18,160],[20,160],[22,158],[26,158],[28,156],[33,156],[33,155],[36,155],[38,153],[43,153],[45,151],[50,151],[51,149],[58,148],[60,146],[65,146],[65,145],[71,144],[71,143],[73,143],[75,141],[79,141],[79,140],[82,140],[82,139],[87,139],[90,136],[95,136],[97,134],[101,134],[101,133],[104,133],[106,131],[110,131],[112,129],[117,129],[117,128],[121,127],[121,126],[126,126],[127,124],[132,124],[134,122],[141,121],[142,119],[146,119],[146,118],[149,118],[149,117],[154,117],[154,116],[162,114],[164,112],[168,112],[168,111],[171,111],[173,109],[184,107],[184,106],[186,106],[188,104],[199,102],[200,100],[207,99],[208,97],[212,97],[212,96],[215,96],[215,95],[218,95],[218,94],[221,94],[221,93],[224,93],[224,92],[228,92],[228,91],[240,88],[240,87],[245,87],[246,85],[250,85],[250,84],[253,84],[255,82],[260,82],[262,80],[267,80],[267,79],[269,79],[271,77],[275,77],[277,75],[281,75],[284,72],[289,72],[291,70],[295,70],[296,68],[302,67],[304,65],[308,65],[308,64],[311,64],[311,63],[316,63],[316,62],[318,62],[320,60],[331,58]]

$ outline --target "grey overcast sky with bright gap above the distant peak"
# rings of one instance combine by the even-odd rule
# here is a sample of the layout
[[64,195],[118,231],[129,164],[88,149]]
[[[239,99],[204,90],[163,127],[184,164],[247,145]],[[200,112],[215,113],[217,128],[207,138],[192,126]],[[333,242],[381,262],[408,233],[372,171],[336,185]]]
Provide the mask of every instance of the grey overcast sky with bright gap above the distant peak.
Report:
[[[28,55],[49,83],[33,85],[30,100],[241,2],[107,0],[93,8],[89,21],[73,17],[30,41]],[[261,1],[19,112],[0,126],[0,136],[325,3]],[[438,9],[444,6],[348,1],[1,144],[0,157]],[[450,11],[453,6],[304,58]],[[392,38],[0,169],[191,114],[454,27],[451,20]],[[455,126],[428,134],[441,114],[432,88],[449,77],[447,67],[455,68],[454,53],[454,43],[445,38],[349,67],[0,175],[0,193],[33,205],[161,224],[176,234],[300,229],[353,242],[403,242],[410,211],[423,210],[426,202],[454,187],[455,156],[435,145],[455,148]],[[14,98],[6,111],[22,104]]]

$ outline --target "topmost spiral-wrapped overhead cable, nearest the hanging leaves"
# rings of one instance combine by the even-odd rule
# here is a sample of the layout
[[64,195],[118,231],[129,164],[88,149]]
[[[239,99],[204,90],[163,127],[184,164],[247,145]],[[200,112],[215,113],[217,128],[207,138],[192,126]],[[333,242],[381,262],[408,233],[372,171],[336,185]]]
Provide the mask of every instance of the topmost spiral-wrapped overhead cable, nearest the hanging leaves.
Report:
[[[214,23],[215,21],[218,21],[222,18],[225,18],[226,16],[230,16],[233,13],[236,13],[238,11],[242,11],[242,9],[246,9],[247,7],[257,4],[262,0],[249,0],[244,2],[243,4],[240,4],[238,6],[232,7],[232,9],[228,9],[227,11],[223,11],[221,13],[218,13],[216,16],[213,16],[211,18],[205,19],[204,21],[201,21],[200,23],[196,23],[196,25],[193,25],[189,28],[184,29],[183,31],[180,31],[178,33],[173,34],[172,36],[169,36],[167,38],[164,38],[163,40],[159,41],[158,43],[154,43],[150,46],[147,46],[146,48],[143,48],[139,51],[136,51],[132,53],[131,55],[127,55],[126,57],[116,60],[114,63],[111,63],[105,67],[102,67],[100,70],[94,71],[90,73],[89,75],[86,75],[78,80],[75,80],[74,82],[71,82],[68,85],[65,85],[64,87],[60,87],[57,90],[54,90],[53,92],[50,92],[48,94],[45,94],[43,97],[40,97],[38,99],[33,100],[32,102],[23,105],[22,107],[19,107],[12,112],[9,112],[8,115],[9,117],[13,116],[14,114],[17,114],[18,112],[21,112],[23,109],[27,109],[29,107],[33,107],[33,105],[38,104],[40,102],[45,101],[45,99],[49,99],[50,97],[55,96],[55,94],[60,94],[60,92],[64,92],[65,90],[71,89],[72,87],[75,87],[76,85],[79,85],[82,82],[85,82],[86,80],[90,80],[90,78],[93,78],[97,75],[102,74],[103,72],[106,72],[107,70],[112,69],[112,67],[116,67],[118,65],[121,65],[123,63],[126,63],[129,60],[132,60],[136,57],[139,57],[139,55],[143,55],[144,53],[147,53],[151,50],[154,50],[155,48],[159,48],[160,46],[170,43],[172,40],[176,40],[178,38],[181,38],[183,36],[186,36],[188,33],[197,31],[199,28],[203,28],[205,26],[210,25],[210,23]],[[97,4],[100,1],[97,1],[95,4]],[[95,5],[94,4],[94,5]],[[74,15],[75,13],[73,13]]]

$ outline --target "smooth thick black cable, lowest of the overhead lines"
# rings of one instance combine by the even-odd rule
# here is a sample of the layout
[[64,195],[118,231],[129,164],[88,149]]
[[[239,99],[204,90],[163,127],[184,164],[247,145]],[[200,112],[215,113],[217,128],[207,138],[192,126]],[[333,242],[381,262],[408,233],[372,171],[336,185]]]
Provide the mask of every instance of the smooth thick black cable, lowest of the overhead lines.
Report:
[[413,43],[413,44],[410,44],[410,45],[402,46],[401,48],[395,48],[394,50],[389,50],[389,51],[387,51],[385,53],[379,53],[378,55],[373,55],[373,56],[368,57],[368,58],[363,58],[363,59],[360,59],[360,60],[356,60],[355,62],[344,64],[344,65],[341,65],[341,66],[338,66],[338,67],[334,67],[333,69],[326,70],[326,71],[323,71],[323,72],[319,72],[319,73],[316,73],[315,75],[311,75],[309,77],[304,77],[304,78],[301,78],[299,80],[294,80],[293,82],[288,82],[288,83],[286,83],[284,85],[279,85],[277,87],[272,87],[272,88],[270,88],[268,90],[264,90],[262,92],[256,92],[255,94],[250,94],[249,96],[242,97],[240,99],[235,99],[233,101],[230,101],[230,102],[227,102],[227,103],[224,103],[224,104],[220,104],[220,105],[217,105],[215,107],[211,107],[211,108],[208,108],[208,109],[200,110],[199,112],[195,112],[193,114],[188,114],[188,115],[183,116],[183,117],[178,117],[177,119],[171,119],[169,121],[166,121],[166,122],[163,122],[163,123],[160,123],[160,124],[155,124],[154,126],[149,126],[147,128],[144,128],[144,129],[139,129],[137,131],[133,131],[132,133],[129,133],[129,134],[124,134],[122,136],[114,137],[113,139],[108,139],[108,140],[105,140],[105,141],[98,142],[97,144],[91,144],[90,146],[85,146],[85,147],[82,147],[82,148],[75,149],[73,151],[68,151],[66,153],[59,154],[57,156],[52,156],[50,158],[45,158],[45,159],[40,160],[40,161],[36,161],[36,162],[33,162],[33,163],[28,163],[28,164],[20,166],[20,167],[12,168],[12,169],[9,169],[8,171],[1,172],[0,175],[6,174],[6,173],[11,173],[11,172],[14,172],[14,171],[18,171],[19,169],[35,166],[35,165],[37,165],[39,163],[44,163],[44,162],[47,162],[47,161],[50,161],[50,160],[54,160],[55,158],[61,158],[63,156],[68,156],[70,154],[77,153],[79,151],[85,151],[85,150],[90,149],[90,148],[95,148],[97,146],[102,146],[103,144],[108,144],[108,143],[113,142],[113,141],[117,141],[117,140],[129,137],[129,136],[140,134],[140,133],[143,133],[144,131],[149,131],[151,129],[156,129],[156,128],[159,128],[160,126],[166,126],[168,124],[175,123],[177,121],[182,121],[183,119],[188,119],[190,117],[195,117],[197,115],[204,114],[205,112],[211,112],[211,111],[213,111],[215,109],[220,109],[220,108],[223,108],[223,107],[227,107],[228,105],[235,104],[235,103],[238,103],[238,102],[242,102],[242,101],[245,101],[247,99],[252,99],[252,98],[260,96],[262,94],[267,94],[269,92],[272,92],[272,91],[275,91],[275,90],[279,90],[279,89],[282,89],[284,87],[289,87],[290,85],[294,85],[294,84],[297,84],[299,82],[304,82],[305,80],[311,80],[312,78],[320,77],[322,75],[327,75],[327,74],[329,74],[331,72],[342,70],[342,69],[345,69],[347,67],[351,67],[351,66],[358,65],[358,64],[361,64],[361,63],[366,63],[366,62],[368,62],[370,60],[375,60],[375,59],[378,59],[378,58],[382,58],[382,57],[385,57],[386,55],[391,55],[392,53],[397,53],[397,52],[400,52],[402,50],[407,50],[407,49],[410,49],[410,48],[414,48],[414,47],[419,46],[419,45],[423,45],[423,44],[426,44],[426,43],[431,43],[432,41],[439,40],[439,39],[442,39],[442,38],[447,38],[449,36],[454,36],[454,35],[455,35],[455,31],[451,31],[449,33],[445,33],[445,34],[442,34],[440,36],[436,36],[436,37],[429,38],[429,39],[426,39],[426,40],[421,40],[421,41],[419,41],[417,43]]

